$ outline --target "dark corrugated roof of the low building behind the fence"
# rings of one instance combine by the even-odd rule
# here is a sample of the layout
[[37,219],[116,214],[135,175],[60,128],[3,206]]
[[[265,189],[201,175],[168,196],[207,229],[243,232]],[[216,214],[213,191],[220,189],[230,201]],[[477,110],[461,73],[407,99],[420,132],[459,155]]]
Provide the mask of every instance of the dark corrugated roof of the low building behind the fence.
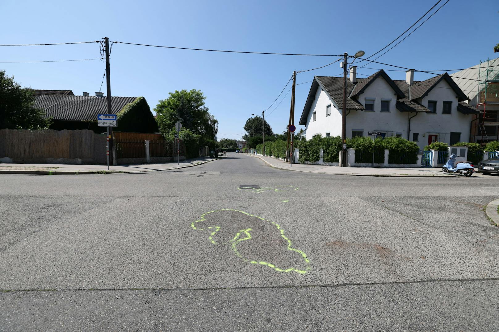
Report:
[[[136,97],[111,97],[111,113],[137,99]],[[41,108],[46,118],[54,120],[97,121],[97,114],[107,114],[107,98],[93,96],[41,95],[36,97],[34,107]]]

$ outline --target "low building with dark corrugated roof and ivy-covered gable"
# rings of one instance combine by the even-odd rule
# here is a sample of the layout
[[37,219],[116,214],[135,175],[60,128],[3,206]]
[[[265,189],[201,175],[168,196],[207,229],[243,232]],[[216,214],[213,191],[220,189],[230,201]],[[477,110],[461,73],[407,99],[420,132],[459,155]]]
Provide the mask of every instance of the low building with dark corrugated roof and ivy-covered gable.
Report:
[[[34,107],[41,108],[45,117],[52,119],[50,129],[89,129],[104,133],[105,127],[97,126],[97,115],[107,114],[107,98],[96,92],[89,96],[75,96],[70,90],[34,90]],[[111,97],[111,113],[118,115],[115,131],[156,133],[158,125],[144,97]]]

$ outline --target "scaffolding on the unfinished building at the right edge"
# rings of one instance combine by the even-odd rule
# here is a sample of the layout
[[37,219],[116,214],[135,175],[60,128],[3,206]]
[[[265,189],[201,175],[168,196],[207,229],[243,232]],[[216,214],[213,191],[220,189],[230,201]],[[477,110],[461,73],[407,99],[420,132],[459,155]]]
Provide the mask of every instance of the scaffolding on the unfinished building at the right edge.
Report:
[[[482,111],[478,119],[478,129],[480,133],[476,133],[482,136],[482,144],[489,143],[489,134],[492,131],[489,130],[487,133],[486,127],[494,126],[495,133],[499,140],[499,119],[498,110],[489,111],[487,113],[487,105],[489,106],[499,106],[499,70],[498,67],[489,66],[490,58],[486,61],[480,61],[478,69],[478,88],[477,88],[477,109]],[[487,63],[487,65],[485,65]],[[483,109],[481,109],[483,108]]]

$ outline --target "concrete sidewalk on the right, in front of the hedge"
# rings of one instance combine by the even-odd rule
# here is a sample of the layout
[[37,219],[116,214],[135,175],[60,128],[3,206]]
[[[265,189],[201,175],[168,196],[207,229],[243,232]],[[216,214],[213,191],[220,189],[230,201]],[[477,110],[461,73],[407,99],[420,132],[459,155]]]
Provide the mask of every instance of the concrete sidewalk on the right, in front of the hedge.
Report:
[[[271,157],[255,156],[268,165],[287,170],[295,170],[309,173],[326,173],[338,175],[359,175],[359,176],[407,176],[407,177],[455,177],[457,175],[443,173],[442,168],[380,168],[380,167],[338,167],[322,165],[306,165],[285,163],[279,159]],[[481,176],[473,174],[473,176]]]

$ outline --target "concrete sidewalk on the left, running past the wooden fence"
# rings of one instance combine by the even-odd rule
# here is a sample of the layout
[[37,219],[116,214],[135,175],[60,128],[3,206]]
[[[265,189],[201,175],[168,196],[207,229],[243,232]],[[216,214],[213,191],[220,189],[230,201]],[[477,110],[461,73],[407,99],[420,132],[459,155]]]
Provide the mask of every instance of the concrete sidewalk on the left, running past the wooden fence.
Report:
[[163,164],[135,165],[65,165],[65,164],[0,164],[0,173],[8,174],[96,174],[96,173],[130,173],[154,170],[169,170],[205,164],[216,158],[201,157]]

